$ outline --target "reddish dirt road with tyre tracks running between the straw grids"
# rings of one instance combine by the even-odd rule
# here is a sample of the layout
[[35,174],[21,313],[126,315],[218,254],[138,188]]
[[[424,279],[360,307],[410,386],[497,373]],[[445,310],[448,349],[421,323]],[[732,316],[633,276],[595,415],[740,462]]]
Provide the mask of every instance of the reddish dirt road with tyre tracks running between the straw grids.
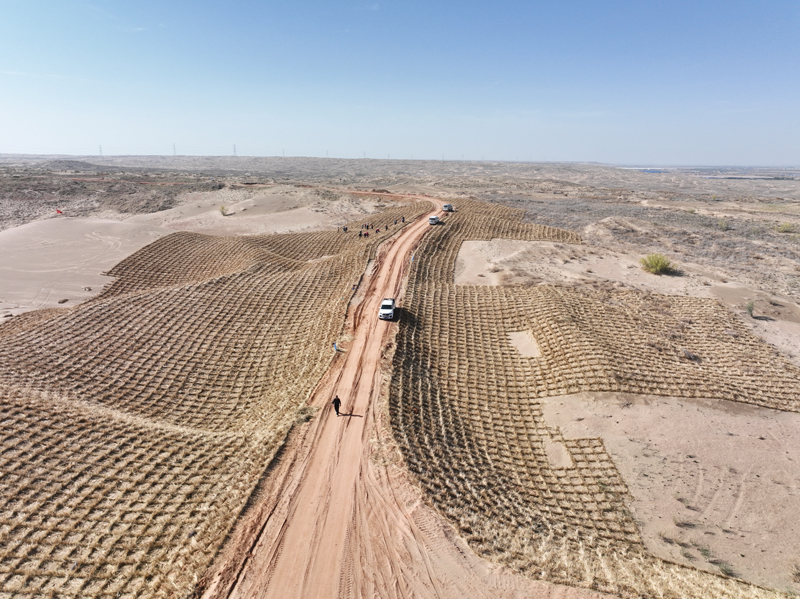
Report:
[[[399,297],[427,218],[384,244],[361,301],[352,341],[334,360],[297,430],[200,588],[204,597],[588,598],[598,593],[534,581],[479,558],[430,509],[393,460],[381,409],[381,360],[396,324],[377,318]],[[363,294],[363,295],[362,295]],[[342,399],[342,415],[330,405]]]

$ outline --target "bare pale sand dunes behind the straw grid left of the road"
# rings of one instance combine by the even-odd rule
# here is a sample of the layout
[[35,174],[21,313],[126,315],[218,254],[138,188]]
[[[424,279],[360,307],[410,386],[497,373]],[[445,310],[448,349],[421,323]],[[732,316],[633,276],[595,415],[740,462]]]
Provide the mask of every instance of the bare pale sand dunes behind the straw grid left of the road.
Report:
[[65,214],[0,230],[5,258],[0,315],[71,307],[93,297],[110,282],[104,272],[175,231],[225,236],[320,231],[388,205],[377,196],[295,186],[189,192],[175,202],[174,208],[134,216],[102,210],[97,217],[78,217],[65,208]]

